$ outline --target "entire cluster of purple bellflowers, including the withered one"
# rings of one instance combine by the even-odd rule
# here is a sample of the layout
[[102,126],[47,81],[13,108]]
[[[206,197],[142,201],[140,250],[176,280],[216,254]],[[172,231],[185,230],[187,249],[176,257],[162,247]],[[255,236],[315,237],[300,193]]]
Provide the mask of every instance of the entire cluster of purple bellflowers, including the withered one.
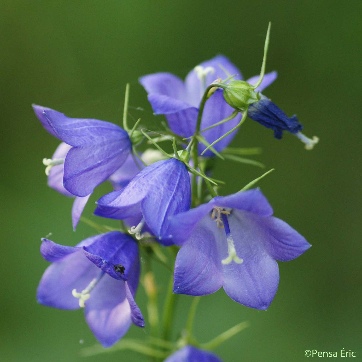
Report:
[[[240,71],[219,55],[195,67],[185,81],[170,73],[156,73],[141,77],[140,83],[155,114],[165,115],[172,134],[178,136],[178,146],[185,147],[180,139],[195,136],[206,88],[231,75],[233,80],[243,80]],[[256,92],[276,77],[276,72],[266,74]],[[257,78],[247,83],[253,84]],[[96,202],[94,214],[124,220],[129,227],[129,234],[111,231],[89,237],[75,247],[42,239],[41,254],[52,264],[39,283],[38,302],[69,310],[83,307],[90,329],[103,346],[117,342],[131,323],[144,326],[134,297],[140,275],[139,240],[145,233],[163,246],[181,246],[174,264],[174,293],[200,296],[223,287],[237,303],[259,310],[268,308],[277,292],[276,260],[292,260],[310,247],[292,227],[272,216],[273,209],[259,189],[225,197],[197,196],[199,202],[191,205],[195,195],[191,192],[190,167],[177,153],[151,157],[145,166],[134,157],[129,130],[96,119],[70,118],[37,105],[33,108],[43,127],[62,141],[52,158],[43,163],[48,185],[75,198],[73,228],[94,188],[106,180],[114,191]],[[199,127],[210,127],[203,133],[206,143],[240,122],[241,112],[211,127],[233,111],[224,100],[222,88],[210,93]],[[283,131],[297,134],[302,129],[295,116],[289,118],[262,94],[247,114],[274,130],[279,139]],[[214,149],[222,152],[235,134],[236,130],[222,138]],[[195,147],[198,155],[206,148],[200,142]],[[207,150],[196,161],[212,156],[214,153]],[[166,361],[220,359],[185,346]]]

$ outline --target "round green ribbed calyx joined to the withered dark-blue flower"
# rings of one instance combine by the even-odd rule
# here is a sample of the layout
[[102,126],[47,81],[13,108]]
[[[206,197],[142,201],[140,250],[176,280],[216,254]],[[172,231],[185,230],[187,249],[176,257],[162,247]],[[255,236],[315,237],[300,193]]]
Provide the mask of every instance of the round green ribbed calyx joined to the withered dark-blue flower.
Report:
[[240,111],[244,111],[249,105],[260,101],[260,95],[255,92],[253,86],[243,80],[232,80],[226,84],[223,91],[225,101]]

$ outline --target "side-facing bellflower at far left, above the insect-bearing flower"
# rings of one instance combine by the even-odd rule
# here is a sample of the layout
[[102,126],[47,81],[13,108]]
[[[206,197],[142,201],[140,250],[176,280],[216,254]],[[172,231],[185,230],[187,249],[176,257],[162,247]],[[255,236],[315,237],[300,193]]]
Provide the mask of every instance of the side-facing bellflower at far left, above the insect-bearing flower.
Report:
[[[33,105],[43,127],[72,146],[65,159],[48,160],[48,171],[64,162],[63,186],[71,194],[88,196],[126,160],[132,144],[129,135],[113,123],[70,118],[50,108]],[[51,171],[51,170],[50,170]]]

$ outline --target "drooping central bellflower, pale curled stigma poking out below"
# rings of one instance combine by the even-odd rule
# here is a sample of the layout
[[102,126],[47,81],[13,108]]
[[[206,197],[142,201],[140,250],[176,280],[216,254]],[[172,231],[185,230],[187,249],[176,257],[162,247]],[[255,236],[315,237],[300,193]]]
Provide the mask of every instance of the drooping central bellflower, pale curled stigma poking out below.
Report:
[[150,231],[163,245],[168,238],[169,217],[190,209],[190,177],[185,164],[171,158],[140,171],[127,186],[104,195],[97,201],[94,215],[111,219],[138,218],[129,232],[141,239],[142,230]]

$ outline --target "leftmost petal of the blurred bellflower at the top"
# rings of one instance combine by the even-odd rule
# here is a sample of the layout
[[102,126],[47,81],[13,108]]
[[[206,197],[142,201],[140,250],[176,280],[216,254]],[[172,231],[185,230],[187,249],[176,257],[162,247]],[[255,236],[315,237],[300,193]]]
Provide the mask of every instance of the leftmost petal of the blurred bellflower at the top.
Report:
[[184,82],[171,73],[155,73],[140,77],[139,83],[148,94],[160,94],[175,100],[186,101]]

